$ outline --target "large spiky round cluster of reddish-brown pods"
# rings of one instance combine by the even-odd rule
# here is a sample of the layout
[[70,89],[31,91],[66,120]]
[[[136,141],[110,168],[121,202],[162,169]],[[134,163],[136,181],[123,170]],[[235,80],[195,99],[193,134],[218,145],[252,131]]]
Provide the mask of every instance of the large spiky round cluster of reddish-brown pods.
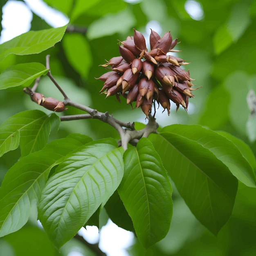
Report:
[[151,29],[150,48],[148,52],[144,36],[134,29],[134,35],[125,41],[119,41],[121,56],[111,58],[101,66],[111,71],[101,75],[98,79],[104,82],[101,93],[106,97],[116,95],[127,100],[127,104],[136,101],[136,107],[141,107],[148,117],[152,103],[157,101],[170,114],[170,100],[176,103],[176,111],[181,105],[188,108],[191,93],[191,79],[189,72],[180,65],[187,65],[181,58],[167,55],[177,44],[177,38],[172,39],[169,32],[162,38]]

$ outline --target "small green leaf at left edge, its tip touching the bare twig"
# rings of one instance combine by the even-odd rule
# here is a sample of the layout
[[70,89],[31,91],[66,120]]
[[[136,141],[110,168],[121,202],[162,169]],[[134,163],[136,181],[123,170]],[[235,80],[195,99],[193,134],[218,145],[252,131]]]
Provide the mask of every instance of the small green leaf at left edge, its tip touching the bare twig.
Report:
[[8,67],[0,74],[0,90],[18,85],[29,86],[34,79],[44,76],[49,70],[41,63],[22,63]]

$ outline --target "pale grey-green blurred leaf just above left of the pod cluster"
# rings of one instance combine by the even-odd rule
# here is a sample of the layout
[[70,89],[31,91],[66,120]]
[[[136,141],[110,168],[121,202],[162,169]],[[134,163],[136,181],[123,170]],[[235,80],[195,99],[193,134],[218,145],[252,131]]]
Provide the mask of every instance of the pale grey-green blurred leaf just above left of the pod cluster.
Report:
[[136,23],[133,13],[129,9],[115,14],[107,14],[99,20],[95,20],[88,27],[88,38],[95,39],[115,33],[126,33]]

